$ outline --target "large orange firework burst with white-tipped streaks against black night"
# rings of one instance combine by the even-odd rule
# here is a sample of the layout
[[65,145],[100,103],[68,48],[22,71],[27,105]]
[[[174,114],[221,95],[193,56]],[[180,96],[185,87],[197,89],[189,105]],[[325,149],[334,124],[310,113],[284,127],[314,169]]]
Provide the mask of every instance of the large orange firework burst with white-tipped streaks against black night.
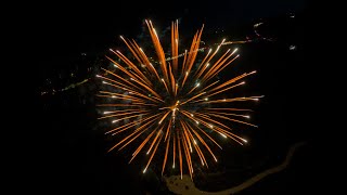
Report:
[[112,70],[102,68],[105,74],[97,75],[107,86],[98,96],[108,101],[98,105],[105,109],[99,119],[112,119],[115,127],[106,134],[119,138],[108,152],[120,151],[131,143],[134,151],[129,162],[140,153],[149,158],[143,172],[155,155],[162,155],[162,174],[167,165],[179,166],[181,177],[188,168],[193,179],[193,161],[206,167],[208,159],[217,161],[211,145],[221,146],[216,135],[240,144],[247,142],[232,132],[230,123],[256,127],[246,121],[249,116],[244,113],[250,109],[233,105],[240,101],[258,101],[261,96],[221,99],[220,94],[244,84],[243,79],[256,72],[219,82],[216,76],[239,57],[237,49],[220,53],[221,47],[228,44],[222,40],[206,53],[200,48],[203,26],[190,49],[180,54],[178,22],[172,22],[171,50],[166,56],[152,22],[145,23],[156,56],[149,57],[134,40],[120,37],[131,56],[111,49],[106,58],[115,67]]

